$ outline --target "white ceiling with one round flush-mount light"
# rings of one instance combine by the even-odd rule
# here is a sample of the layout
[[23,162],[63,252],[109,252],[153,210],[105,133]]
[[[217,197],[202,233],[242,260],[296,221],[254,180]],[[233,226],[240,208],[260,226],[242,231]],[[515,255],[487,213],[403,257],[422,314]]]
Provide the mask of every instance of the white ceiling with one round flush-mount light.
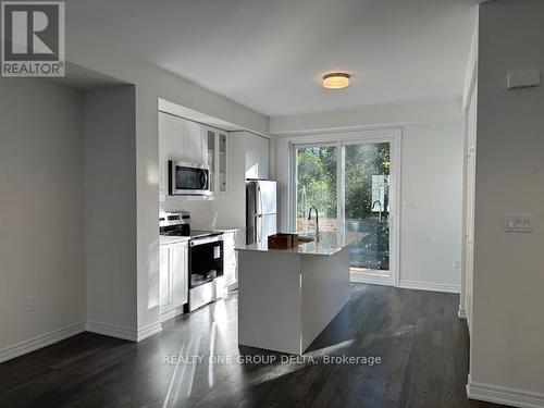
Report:
[[[69,0],[106,40],[269,116],[458,97],[475,0]],[[325,90],[321,76],[353,75]]]

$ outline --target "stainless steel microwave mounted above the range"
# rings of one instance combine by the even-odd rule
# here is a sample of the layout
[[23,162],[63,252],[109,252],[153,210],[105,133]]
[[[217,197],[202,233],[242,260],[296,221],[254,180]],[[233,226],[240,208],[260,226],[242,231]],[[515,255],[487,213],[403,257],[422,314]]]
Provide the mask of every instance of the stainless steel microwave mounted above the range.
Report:
[[207,164],[169,160],[169,195],[210,195],[210,168]]

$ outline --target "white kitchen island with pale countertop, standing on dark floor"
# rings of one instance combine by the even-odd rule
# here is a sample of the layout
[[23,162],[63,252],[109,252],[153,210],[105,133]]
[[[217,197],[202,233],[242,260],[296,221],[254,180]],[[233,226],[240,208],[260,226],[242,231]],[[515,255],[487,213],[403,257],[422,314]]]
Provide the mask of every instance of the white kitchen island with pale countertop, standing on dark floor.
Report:
[[322,233],[290,249],[238,251],[238,343],[301,355],[349,300],[347,246],[366,234]]

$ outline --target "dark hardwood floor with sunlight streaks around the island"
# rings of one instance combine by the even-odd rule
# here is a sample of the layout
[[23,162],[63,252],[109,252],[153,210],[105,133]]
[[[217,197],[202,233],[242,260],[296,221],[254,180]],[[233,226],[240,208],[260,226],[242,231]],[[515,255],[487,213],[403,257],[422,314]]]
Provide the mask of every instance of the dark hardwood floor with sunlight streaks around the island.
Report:
[[457,295],[354,284],[305,360],[286,362],[238,349],[232,294],[137,345],[84,333],[4,362],[0,407],[498,407],[467,399],[457,307]]

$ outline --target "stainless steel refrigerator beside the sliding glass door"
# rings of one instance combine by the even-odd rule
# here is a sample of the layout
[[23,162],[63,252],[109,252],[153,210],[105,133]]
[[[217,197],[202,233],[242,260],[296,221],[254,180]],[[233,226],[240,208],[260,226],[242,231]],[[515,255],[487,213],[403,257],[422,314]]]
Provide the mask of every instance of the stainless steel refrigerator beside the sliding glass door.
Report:
[[246,242],[265,243],[276,230],[276,182],[246,181]]

